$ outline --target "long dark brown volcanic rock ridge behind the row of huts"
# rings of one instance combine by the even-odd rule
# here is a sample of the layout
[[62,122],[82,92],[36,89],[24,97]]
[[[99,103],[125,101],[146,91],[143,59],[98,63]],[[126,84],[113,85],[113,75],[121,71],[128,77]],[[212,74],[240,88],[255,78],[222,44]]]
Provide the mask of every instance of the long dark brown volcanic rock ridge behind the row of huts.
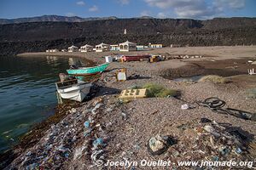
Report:
[[[127,35],[124,35],[124,29]],[[0,25],[0,54],[67,48],[71,44],[96,45],[126,40],[138,44],[178,43],[189,46],[256,43],[256,18],[115,19],[83,22],[26,22]]]

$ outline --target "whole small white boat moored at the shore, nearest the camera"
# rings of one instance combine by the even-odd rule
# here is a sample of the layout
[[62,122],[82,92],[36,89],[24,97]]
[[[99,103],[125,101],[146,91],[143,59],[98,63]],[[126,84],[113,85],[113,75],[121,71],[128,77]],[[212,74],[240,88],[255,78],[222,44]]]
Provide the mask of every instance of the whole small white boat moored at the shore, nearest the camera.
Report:
[[78,79],[63,82],[55,82],[57,93],[62,99],[72,99],[82,102],[90,93],[91,82],[83,82]]

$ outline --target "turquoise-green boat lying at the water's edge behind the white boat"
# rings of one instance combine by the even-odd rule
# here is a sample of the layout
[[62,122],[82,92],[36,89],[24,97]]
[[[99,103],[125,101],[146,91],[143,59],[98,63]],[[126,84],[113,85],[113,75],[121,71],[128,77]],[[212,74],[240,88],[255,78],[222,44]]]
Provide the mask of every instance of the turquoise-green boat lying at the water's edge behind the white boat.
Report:
[[69,69],[67,70],[67,73],[71,76],[79,78],[79,80],[83,80],[84,77],[100,74],[102,71],[107,69],[108,65],[109,63],[96,65],[94,67],[79,67],[78,69]]

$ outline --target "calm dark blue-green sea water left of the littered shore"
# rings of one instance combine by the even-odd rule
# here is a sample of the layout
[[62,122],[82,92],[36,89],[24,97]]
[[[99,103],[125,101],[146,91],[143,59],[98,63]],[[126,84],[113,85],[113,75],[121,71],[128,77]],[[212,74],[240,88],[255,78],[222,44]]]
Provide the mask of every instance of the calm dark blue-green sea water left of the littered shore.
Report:
[[92,65],[67,57],[0,57],[0,152],[32,124],[54,114],[55,82],[72,64]]

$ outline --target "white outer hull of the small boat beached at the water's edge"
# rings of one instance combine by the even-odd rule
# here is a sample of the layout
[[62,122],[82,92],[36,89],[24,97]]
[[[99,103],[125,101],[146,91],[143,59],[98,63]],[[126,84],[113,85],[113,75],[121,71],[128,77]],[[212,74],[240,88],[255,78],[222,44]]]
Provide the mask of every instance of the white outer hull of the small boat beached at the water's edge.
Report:
[[[57,88],[58,94],[62,99],[71,99],[82,102],[84,98],[90,94],[90,82],[79,81],[77,84],[69,85],[67,87]],[[57,85],[56,85],[57,87]]]

